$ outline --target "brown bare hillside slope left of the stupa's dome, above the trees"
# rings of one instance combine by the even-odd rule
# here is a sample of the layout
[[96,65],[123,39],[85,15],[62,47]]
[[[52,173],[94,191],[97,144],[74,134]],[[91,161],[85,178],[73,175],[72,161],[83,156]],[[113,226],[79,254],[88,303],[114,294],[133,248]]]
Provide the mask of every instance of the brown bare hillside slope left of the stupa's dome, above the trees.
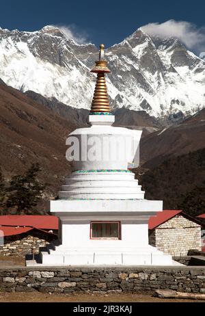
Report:
[[40,179],[49,183],[46,196],[56,196],[62,177],[69,172],[65,159],[71,121],[0,82],[0,163],[5,179],[40,163]]

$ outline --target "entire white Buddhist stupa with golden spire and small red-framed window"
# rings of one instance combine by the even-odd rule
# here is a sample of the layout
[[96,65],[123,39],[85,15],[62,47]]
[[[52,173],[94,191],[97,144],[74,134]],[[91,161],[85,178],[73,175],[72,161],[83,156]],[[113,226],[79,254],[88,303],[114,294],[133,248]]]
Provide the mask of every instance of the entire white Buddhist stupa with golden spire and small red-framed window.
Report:
[[141,131],[112,127],[102,44],[92,72],[97,80],[91,127],[68,135],[73,171],[59,200],[51,201],[59,239],[40,252],[40,265],[176,265],[172,256],[148,243],[148,220],[162,211],[163,201],[144,199],[130,171],[139,162]]

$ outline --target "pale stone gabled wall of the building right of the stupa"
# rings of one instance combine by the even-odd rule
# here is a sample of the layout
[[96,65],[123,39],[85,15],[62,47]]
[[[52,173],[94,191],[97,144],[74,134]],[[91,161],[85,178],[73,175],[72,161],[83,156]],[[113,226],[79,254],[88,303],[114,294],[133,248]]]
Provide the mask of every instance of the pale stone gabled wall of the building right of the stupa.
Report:
[[201,226],[176,215],[149,234],[149,243],[173,256],[186,256],[190,249],[202,250]]

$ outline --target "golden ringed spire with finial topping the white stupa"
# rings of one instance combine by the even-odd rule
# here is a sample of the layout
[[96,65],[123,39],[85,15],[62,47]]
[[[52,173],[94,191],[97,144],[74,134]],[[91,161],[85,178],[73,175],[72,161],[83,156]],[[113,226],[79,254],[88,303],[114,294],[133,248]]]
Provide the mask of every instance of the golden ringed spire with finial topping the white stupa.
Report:
[[94,97],[92,99],[91,113],[96,112],[110,112],[109,96],[107,94],[107,86],[105,81],[105,73],[110,73],[107,68],[107,62],[104,60],[104,44],[100,44],[99,60],[96,66],[91,70],[91,73],[97,73],[96,88],[94,90]]

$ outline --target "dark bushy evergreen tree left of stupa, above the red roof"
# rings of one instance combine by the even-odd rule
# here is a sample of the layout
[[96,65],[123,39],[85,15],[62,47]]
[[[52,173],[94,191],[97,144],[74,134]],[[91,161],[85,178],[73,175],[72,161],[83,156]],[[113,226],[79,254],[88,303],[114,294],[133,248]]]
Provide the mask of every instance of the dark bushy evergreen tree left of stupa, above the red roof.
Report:
[[8,192],[8,200],[6,207],[15,209],[16,213],[32,213],[33,207],[36,207],[45,185],[42,185],[36,177],[40,172],[38,163],[32,163],[31,167],[25,172],[13,176],[9,187],[6,189]]

